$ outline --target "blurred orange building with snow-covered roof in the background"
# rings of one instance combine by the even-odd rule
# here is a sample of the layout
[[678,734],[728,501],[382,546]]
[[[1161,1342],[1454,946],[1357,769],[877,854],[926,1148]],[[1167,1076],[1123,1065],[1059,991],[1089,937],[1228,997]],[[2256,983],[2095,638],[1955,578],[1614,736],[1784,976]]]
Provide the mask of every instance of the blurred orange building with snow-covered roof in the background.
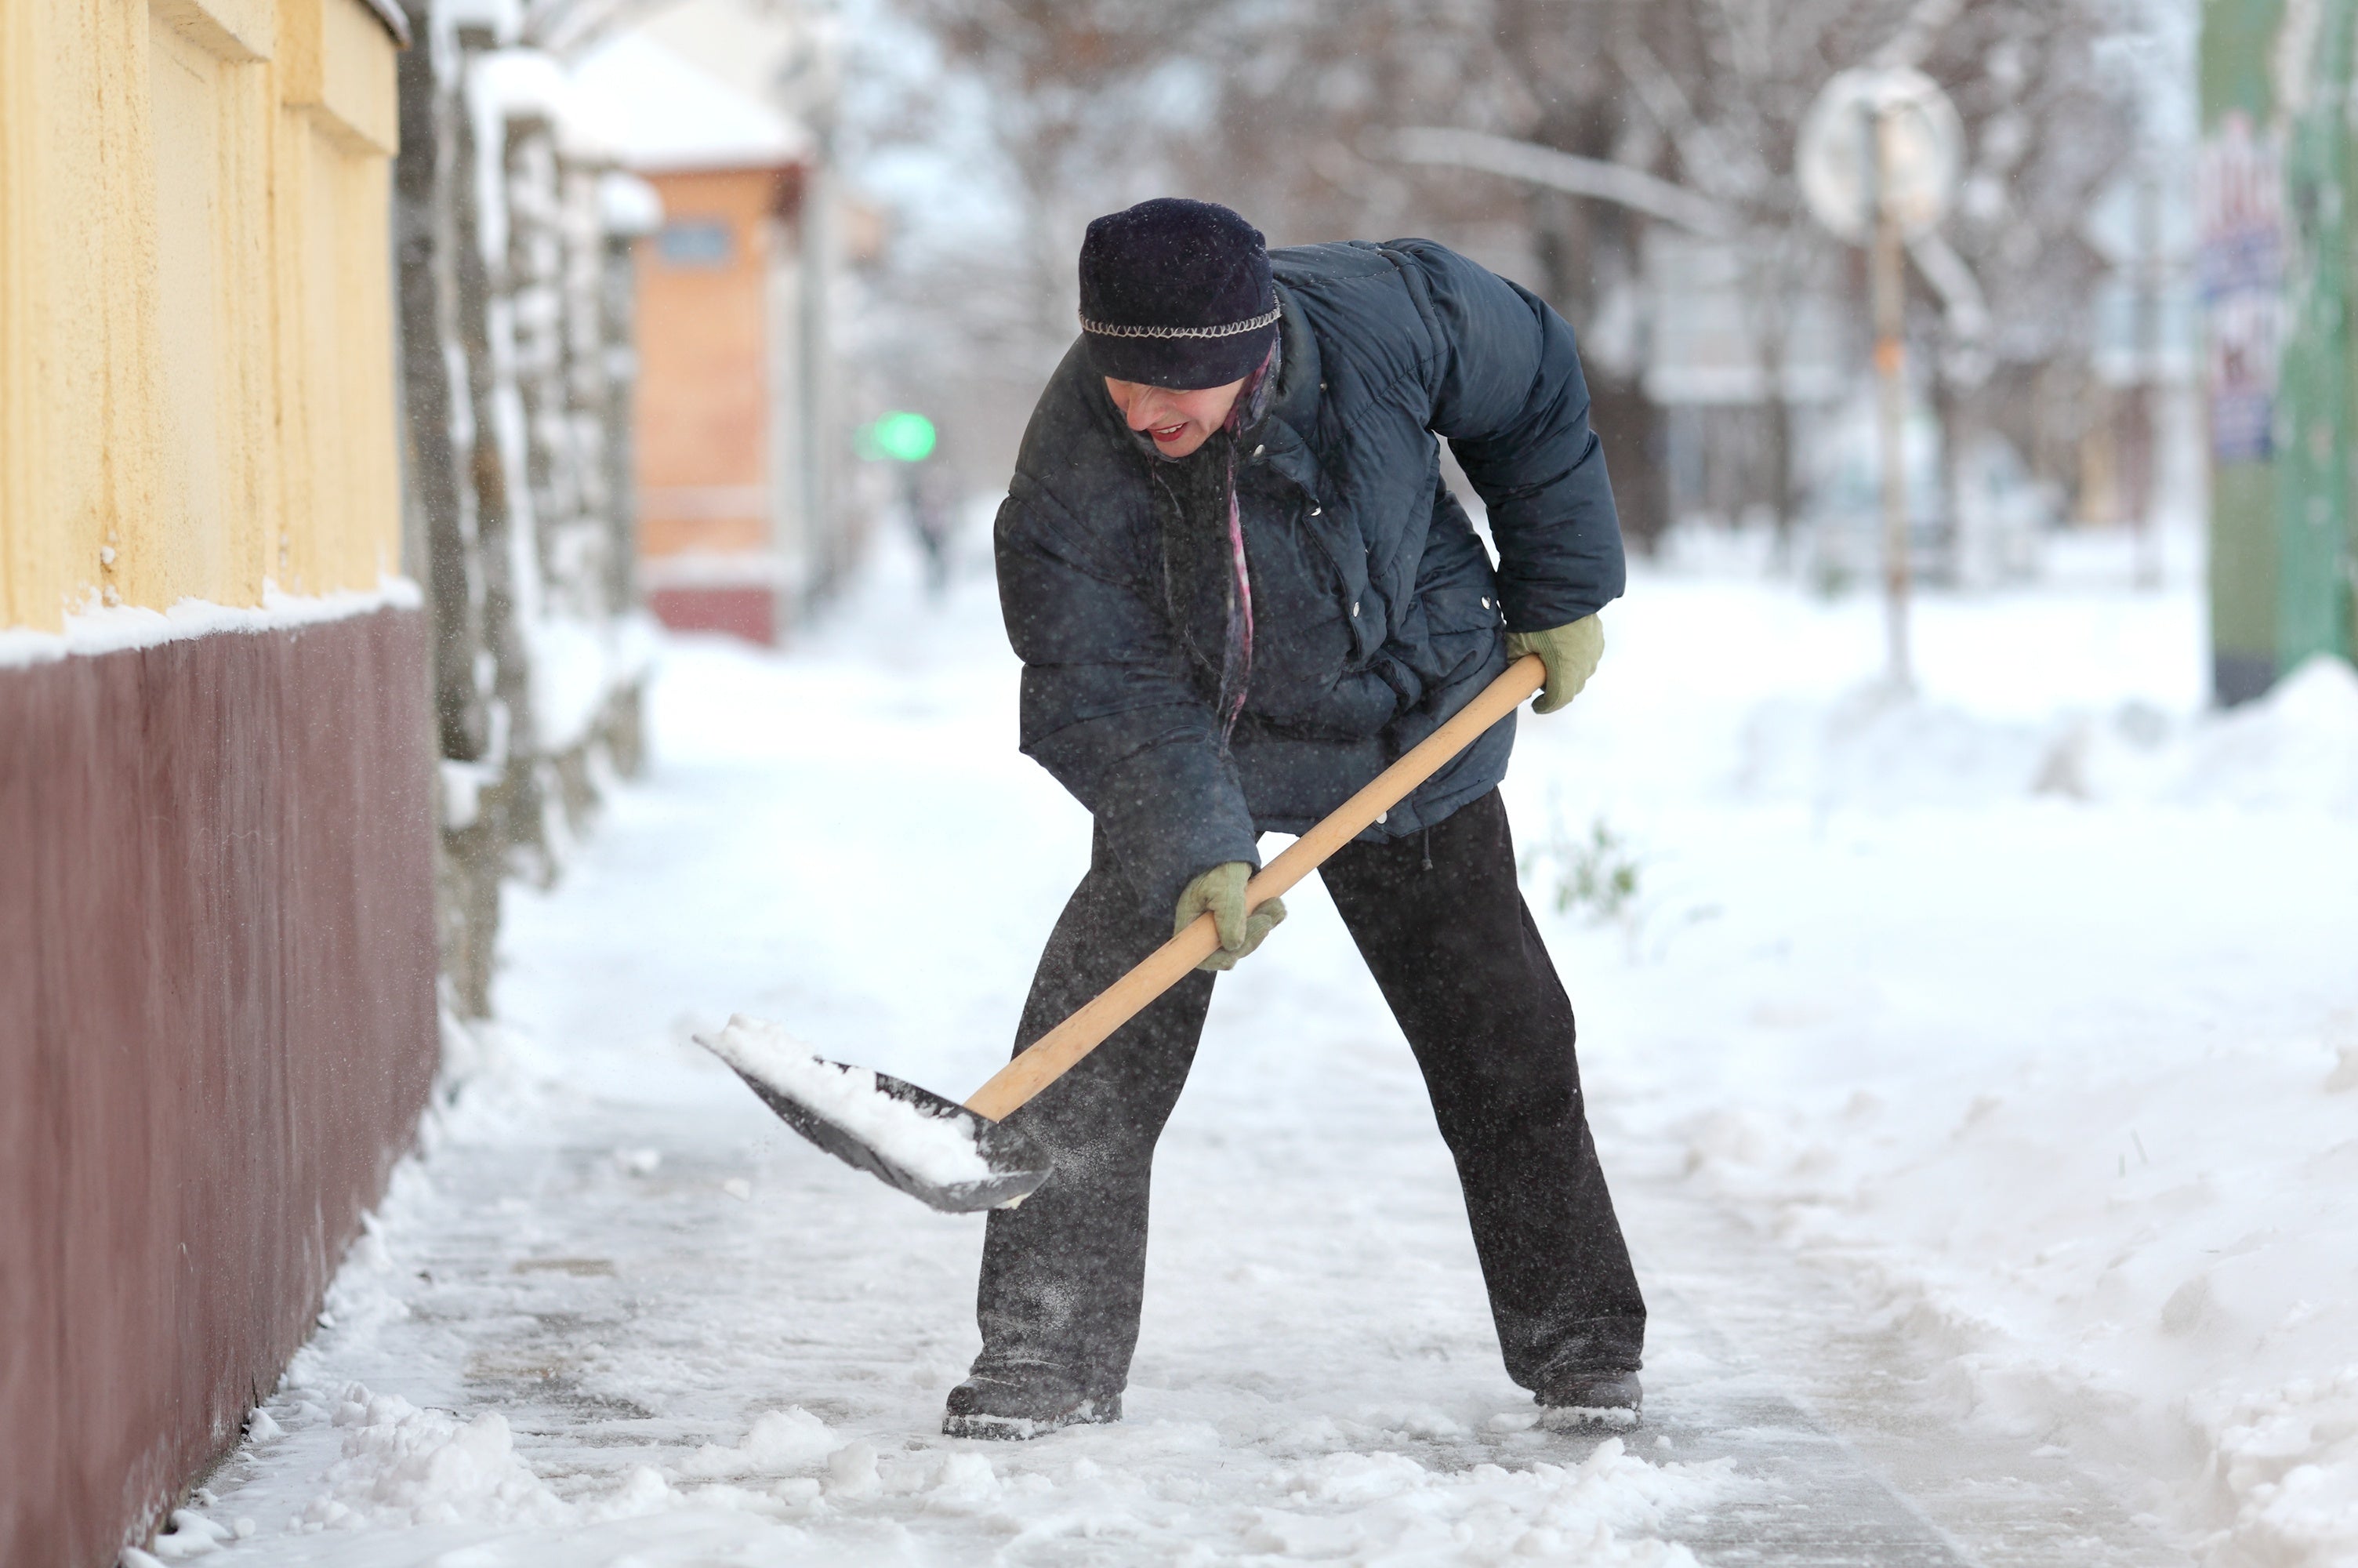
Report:
[[686,0],[578,71],[663,198],[637,302],[646,604],[670,627],[764,644],[856,545],[830,408],[825,144],[778,106],[809,47],[790,14]]

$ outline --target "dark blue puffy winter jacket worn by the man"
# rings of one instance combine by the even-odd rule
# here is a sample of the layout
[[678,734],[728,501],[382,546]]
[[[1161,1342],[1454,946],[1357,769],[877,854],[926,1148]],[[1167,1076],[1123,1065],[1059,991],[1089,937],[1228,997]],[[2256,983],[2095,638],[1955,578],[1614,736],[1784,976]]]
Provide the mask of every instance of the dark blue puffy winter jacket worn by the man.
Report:
[[[1259,832],[1302,832],[1544,630],[1622,592],[1622,542],[1573,330],[1434,245],[1269,255],[1278,387],[1238,436],[1254,604],[1245,712],[1221,745],[1181,648],[1155,521],[1160,462],[1066,354],[997,516],[1000,608],[1023,660],[1023,752],[1094,816],[1151,905]],[[1445,436],[1497,566],[1441,481]],[[1507,773],[1502,719],[1368,837],[1408,837]]]

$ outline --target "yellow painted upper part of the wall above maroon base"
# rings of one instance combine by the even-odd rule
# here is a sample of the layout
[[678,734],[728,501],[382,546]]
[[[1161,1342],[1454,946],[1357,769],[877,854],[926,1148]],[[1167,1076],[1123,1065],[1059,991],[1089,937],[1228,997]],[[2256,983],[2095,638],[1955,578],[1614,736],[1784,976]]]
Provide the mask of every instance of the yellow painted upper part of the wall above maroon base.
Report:
[[361,0],[0,0],[0,627],[396,571],[394,47]]

